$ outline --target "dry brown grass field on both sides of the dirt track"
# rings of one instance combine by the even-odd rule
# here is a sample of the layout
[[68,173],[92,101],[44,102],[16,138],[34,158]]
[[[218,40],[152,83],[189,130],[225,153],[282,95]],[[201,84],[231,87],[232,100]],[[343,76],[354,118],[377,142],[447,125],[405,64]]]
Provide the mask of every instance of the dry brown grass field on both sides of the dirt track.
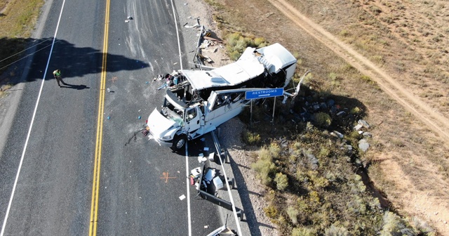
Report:
[[[363,158],[370,175],[405,216],[423,218],[449,235],[449,150],[414,114],[366,75],[310,37],[269,1],[215,1],[220,19],[245,33],[297,51],[301,70],[333,94],[368,109],[373,145]],[[382,67],[436,112],[449,117],[447,1],[289,1],[321,27]],[[331,74],[333,73],[333,74]],[[338,79],[337,79],[338,78]]]

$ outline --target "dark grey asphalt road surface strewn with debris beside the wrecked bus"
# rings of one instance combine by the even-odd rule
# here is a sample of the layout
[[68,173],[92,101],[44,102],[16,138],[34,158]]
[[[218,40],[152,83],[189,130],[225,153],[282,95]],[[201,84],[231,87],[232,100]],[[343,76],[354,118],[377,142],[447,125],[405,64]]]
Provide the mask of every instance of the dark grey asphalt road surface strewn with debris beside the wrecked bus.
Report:
[[[222,225],[217,206],[197,200],[194,188],[187,185],[187,171],[199,166],[196,157],[171,152],[140,133],[149,113],[163,99],[163,90],[156,90],[161,82],[152,79],[179,70],[181,65],[188,67],[186,51],[195,43],[179,29],[181,63],[171,1],[114,1],[109,12],[106,1],[48,4],[48,15],[43,14],[41,20],[45,26],[36,35],[36,44],[41,44],[31,66],[24,68],[29,74],[1,153],[0,216],[2,220],[7,216],[2,221],[6,222],[4,235],[89,233],[102,73],[110,92],[105,93],[102,119],[95,232],[207,235]],[[175,13],[185,11],[182,6],[174,7]],[[102,70],[107,13],[107,65]],[[133,20],[126,22],[128,16]],[[180,27],[179,19],[177,24]],[[58,87],[51,75],[56,68],[69,85]],[[194,151],[201,145],[189,143]],[[180,199],[182,195],[186,198]]]

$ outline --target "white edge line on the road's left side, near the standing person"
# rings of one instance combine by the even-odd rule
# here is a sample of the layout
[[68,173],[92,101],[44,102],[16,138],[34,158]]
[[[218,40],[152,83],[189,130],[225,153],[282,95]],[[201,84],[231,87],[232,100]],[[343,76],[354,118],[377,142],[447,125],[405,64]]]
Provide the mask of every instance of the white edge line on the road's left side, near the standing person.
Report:
[[22,169],[23,159],[25,157],[25,152],[27,150],[29,136],[31,134],[31,131],[32,131],[32,128],[33,128],[33,124],[34,124],[34,117],[36,117],[37,106],[39,105],[39,100],[41,99],[41,94],[42,94],[42,89],[43,89],[43,82],[45,82],[45,77],[46,77],[46,74],[47,74],[47,71],[48,71],[48,65],[50,65],[51,53],[53,52],[53,46],[55,45],[56,34],[58,34],[58,28],[59,28],[59,24],[60,24],[60,21],[61,21],[62,10],[64,9],[64,4],[65,4],[65,0],[62,1],[62,7],[61,7],[61,11],[59,13],[58,25],[56,25],[55,36],[53,37],[53,42],[51,43],[50,54],[48,55],[48,60],[47,60],[47,65],[46,65],[46,68],[45,68],[45,72],[43,72],[41,89],[39,89],[39,95],[37,96],[36,105],[34,106],[33,117],[31,119],[31,123],[29,124],[27,139],[25,140],[25,146],[23,147],[22,157],[20,157],[18,171],[17,171],[17,174],[15,175],[13,191],[11,192],[11,197],[9,198],[8,209],[6,209],[6,214],[5,214],[5,218],[4,218],[4,221],[3,221],[3,225],[1,226],[0,236],[3,236],[4,233],[5,233],[6,222],[8,221],[9,211],[11,210],[11,205],[13,203],[15,188],[17,187],[17,182],[18,182],[18,179],[19,179],[19,176],[20,176],[20,170]]

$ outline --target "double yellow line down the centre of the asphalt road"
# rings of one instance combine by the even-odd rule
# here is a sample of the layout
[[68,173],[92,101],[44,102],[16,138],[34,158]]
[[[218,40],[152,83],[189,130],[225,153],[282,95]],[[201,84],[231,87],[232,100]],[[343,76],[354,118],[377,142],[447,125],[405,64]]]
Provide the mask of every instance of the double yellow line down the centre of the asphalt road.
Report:
[[90,236],[97,235],[98,194],[100,192],[101,145],[102,145],[103,119],[104,119],[103,114],[105,111],[107,40],[109,32],[109,5],[110,5],[109,0],[106,0],[105,35],[103,36],[103,59],[102,59],[102,70],[100,80],[100,98],[98,99],[97,139],[95,141],[95,159],[93,165],[91,223],[89,224]]

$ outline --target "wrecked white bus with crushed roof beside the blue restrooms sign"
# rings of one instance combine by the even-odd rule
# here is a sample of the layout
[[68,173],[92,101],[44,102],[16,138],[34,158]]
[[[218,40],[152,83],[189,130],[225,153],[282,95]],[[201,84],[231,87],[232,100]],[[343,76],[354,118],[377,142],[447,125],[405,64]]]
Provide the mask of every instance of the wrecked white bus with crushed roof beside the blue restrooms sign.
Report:
[[147,130],[160,145],[180,150],[187,140],[240,114],[250,102],[246,91],[287,86],[295,67],[295,57],[272,44],[246,48],[239,60],[213,70],[180,70],[185,79],[166,90],[161,110],[148,117]]

